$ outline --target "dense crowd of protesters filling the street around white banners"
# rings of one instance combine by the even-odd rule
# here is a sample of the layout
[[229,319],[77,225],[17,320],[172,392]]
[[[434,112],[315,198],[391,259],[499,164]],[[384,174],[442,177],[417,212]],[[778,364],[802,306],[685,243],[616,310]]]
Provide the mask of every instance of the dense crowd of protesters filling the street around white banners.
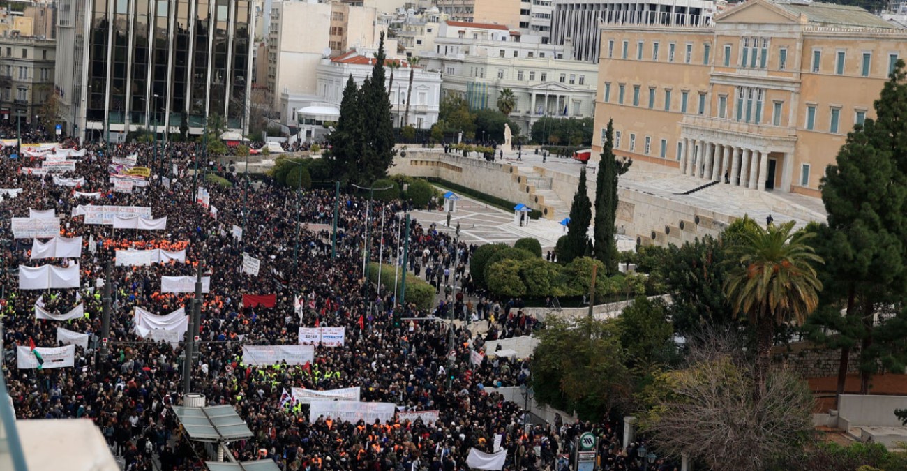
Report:
[[[64,139],[60,146],[79,148]],[[385,240],[384,252],[371,250],[375,261],[397,259],[396,241],[403,233],[398,218],[405,203],[375,201],[368,209],[363,197],[342,195],[333,257],[330,234],[308,227],[331,223],[333,191],[300,193],[267,177],[249,182],[213,159],[205,162],[195,143],[171,142],[157,151],[148,143],[112,148],[88,143],[85,149],[75,172],[60,175],[84,178],[78,187],[54,184],[50,174],[21,172],[40,167],[40,157],[14,146],[0,152],[0,189],[22,189],[0,199],[3,366],[17,417],[91,419],[131,471],[154,469],[152,460],[164,471],[203,469],[208,456],[188,440],[171,408],[183,399],[183,346],[141,338],[133,318],[136,308],[157,315],[180,307],[189,310],[194,295],[161,292],[161,276],[194,275],[200,266],[210,276],[210,292],[202,299],[199,356],[190,358],[192,390],[203,394],[209,405],[235,407],[248,424],[254,437],[229,444],[237,460],[272,459],[286,471],[452,471],[467,469],[465,458],[472,447],[491,453],[497,441],[507,450],[506,469],[560,470],[570,459],[574,439],[593,431],[601,438],[603,469],[672,469],[639,457],[635,451],[641,444],[623,449],[619,424],[608,417],[597,423],[526,424],[522,405],[493,391],[527,383],[531,359],[486,356],[473,366],[470,351],[483,349],[488,339],[528,333],[534,319],[522,315],[513,301],[445,289],[454,278],[468,277],[474,247],[454,243],[448,233],[414,220],[404,265],[439,287],[437,307],[399,306],[394,292],[366,288],[366,230],[375,244]],[[11,158],[16,152],[17,158]],[[112,191],[109,164],[130,155],[137,156],[138,165],[151,167],[148,185],[132,192]],[[197,165],[198,176],[193,174]],[[207,182],[203,172],[219,172],[232,185]],[[196,202],[199,187],[210,194],[208,207]],[[80,196],[93,192],[101,193],[97,200]],[[294,212],[297,202],[301,227]],[[73,209],[83,204],[151,207],[153,218],[168,218],[166,230],[114,231],[112,226],[86,224],[83,216],[73,216]],[[10,218],[28,217],[33,209],[54,210],[61,218],[62,235],[83,237],[80,260],[29,260],[33,240],[14,239]],[[382,213],[387,218],[384,233]],[[234,237],[233,226],[243,229],[241,239]],[[184,248],[186,263],[113,266],[115,250],[129,248]],[[258,276],[241,270],[244,253],[261,260]],[[73,261],[79,264],[82,288],[18,289],[16,267],[66,266]],[[108,264],[110,279],[105,277]],[[99,280],[105,279],[111,283],[112,315],[109,348],[102,354]],[[248,294],[275,294],[277,304],[244,307],[243,295]],[[297,297],[301,310],[294,306]],[[35,319],[36,303],[59,314],[79,302],[84,305],[82,319]],[[444,318],[450,303],[454,312],[462,313],[460,319],[487,320],[492,329],[473,335],[462,323],[451,327],[433,316]],[[393,309],[411,320],[395,324]],[[316,326],[345,327],[345,344],[318,346],[315,361],[306,365],[243,364],[243,345],[296,345],[298,328]],[[56,347],[58,327],[90,334],[87,348],[75,348],[72,368],[16,368],[15,347]],[[363,401],[393,402],[402,410],[437,410],[438,419],[310,420],[308,407],[282,397],[291,388],[349,387],[360,387]]]

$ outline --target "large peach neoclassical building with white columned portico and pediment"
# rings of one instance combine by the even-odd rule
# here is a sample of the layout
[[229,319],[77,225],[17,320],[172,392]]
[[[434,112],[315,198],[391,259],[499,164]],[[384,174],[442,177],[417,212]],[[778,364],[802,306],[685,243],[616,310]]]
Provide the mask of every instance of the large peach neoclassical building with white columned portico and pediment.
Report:
[[749,0],[706,26],[603,24],[594,148],[613,118],[618,155],[819,196],[905,55],[907,30],[844,5]]

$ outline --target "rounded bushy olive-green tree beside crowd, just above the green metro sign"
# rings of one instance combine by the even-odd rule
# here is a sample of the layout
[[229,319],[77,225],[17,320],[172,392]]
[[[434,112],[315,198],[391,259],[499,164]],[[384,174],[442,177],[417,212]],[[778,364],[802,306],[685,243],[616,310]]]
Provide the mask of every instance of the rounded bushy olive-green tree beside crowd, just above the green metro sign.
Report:
[[546,319],[532,352],[535,400],[582,420],[600,420],[625,407],[631,383],[611,321]]

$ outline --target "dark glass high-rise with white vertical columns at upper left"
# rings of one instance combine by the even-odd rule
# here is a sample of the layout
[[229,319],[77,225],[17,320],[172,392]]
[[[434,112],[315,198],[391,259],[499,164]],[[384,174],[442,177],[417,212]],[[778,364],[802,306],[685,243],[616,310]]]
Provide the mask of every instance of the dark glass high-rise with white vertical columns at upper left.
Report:
[[[139,127],[200,133],[210,114],[249,123],[249,0],[60,0],[56,86],[67,128],[106,138]],[[76,127],[77,126],[77,127]]]

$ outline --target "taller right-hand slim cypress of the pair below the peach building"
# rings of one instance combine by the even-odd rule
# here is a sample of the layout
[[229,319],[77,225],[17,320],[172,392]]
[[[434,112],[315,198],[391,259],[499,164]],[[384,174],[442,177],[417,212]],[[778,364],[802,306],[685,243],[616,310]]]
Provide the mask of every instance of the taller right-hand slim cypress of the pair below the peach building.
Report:
[[595,258],[604,263],[605,270],[618,270],[618,244],[614,240],[614,221],[618,211],[618,179],[629,171],[633,161],[614,155],[614,120],[608,120],[605,143],[601,146],[599,175],[595,181]]

